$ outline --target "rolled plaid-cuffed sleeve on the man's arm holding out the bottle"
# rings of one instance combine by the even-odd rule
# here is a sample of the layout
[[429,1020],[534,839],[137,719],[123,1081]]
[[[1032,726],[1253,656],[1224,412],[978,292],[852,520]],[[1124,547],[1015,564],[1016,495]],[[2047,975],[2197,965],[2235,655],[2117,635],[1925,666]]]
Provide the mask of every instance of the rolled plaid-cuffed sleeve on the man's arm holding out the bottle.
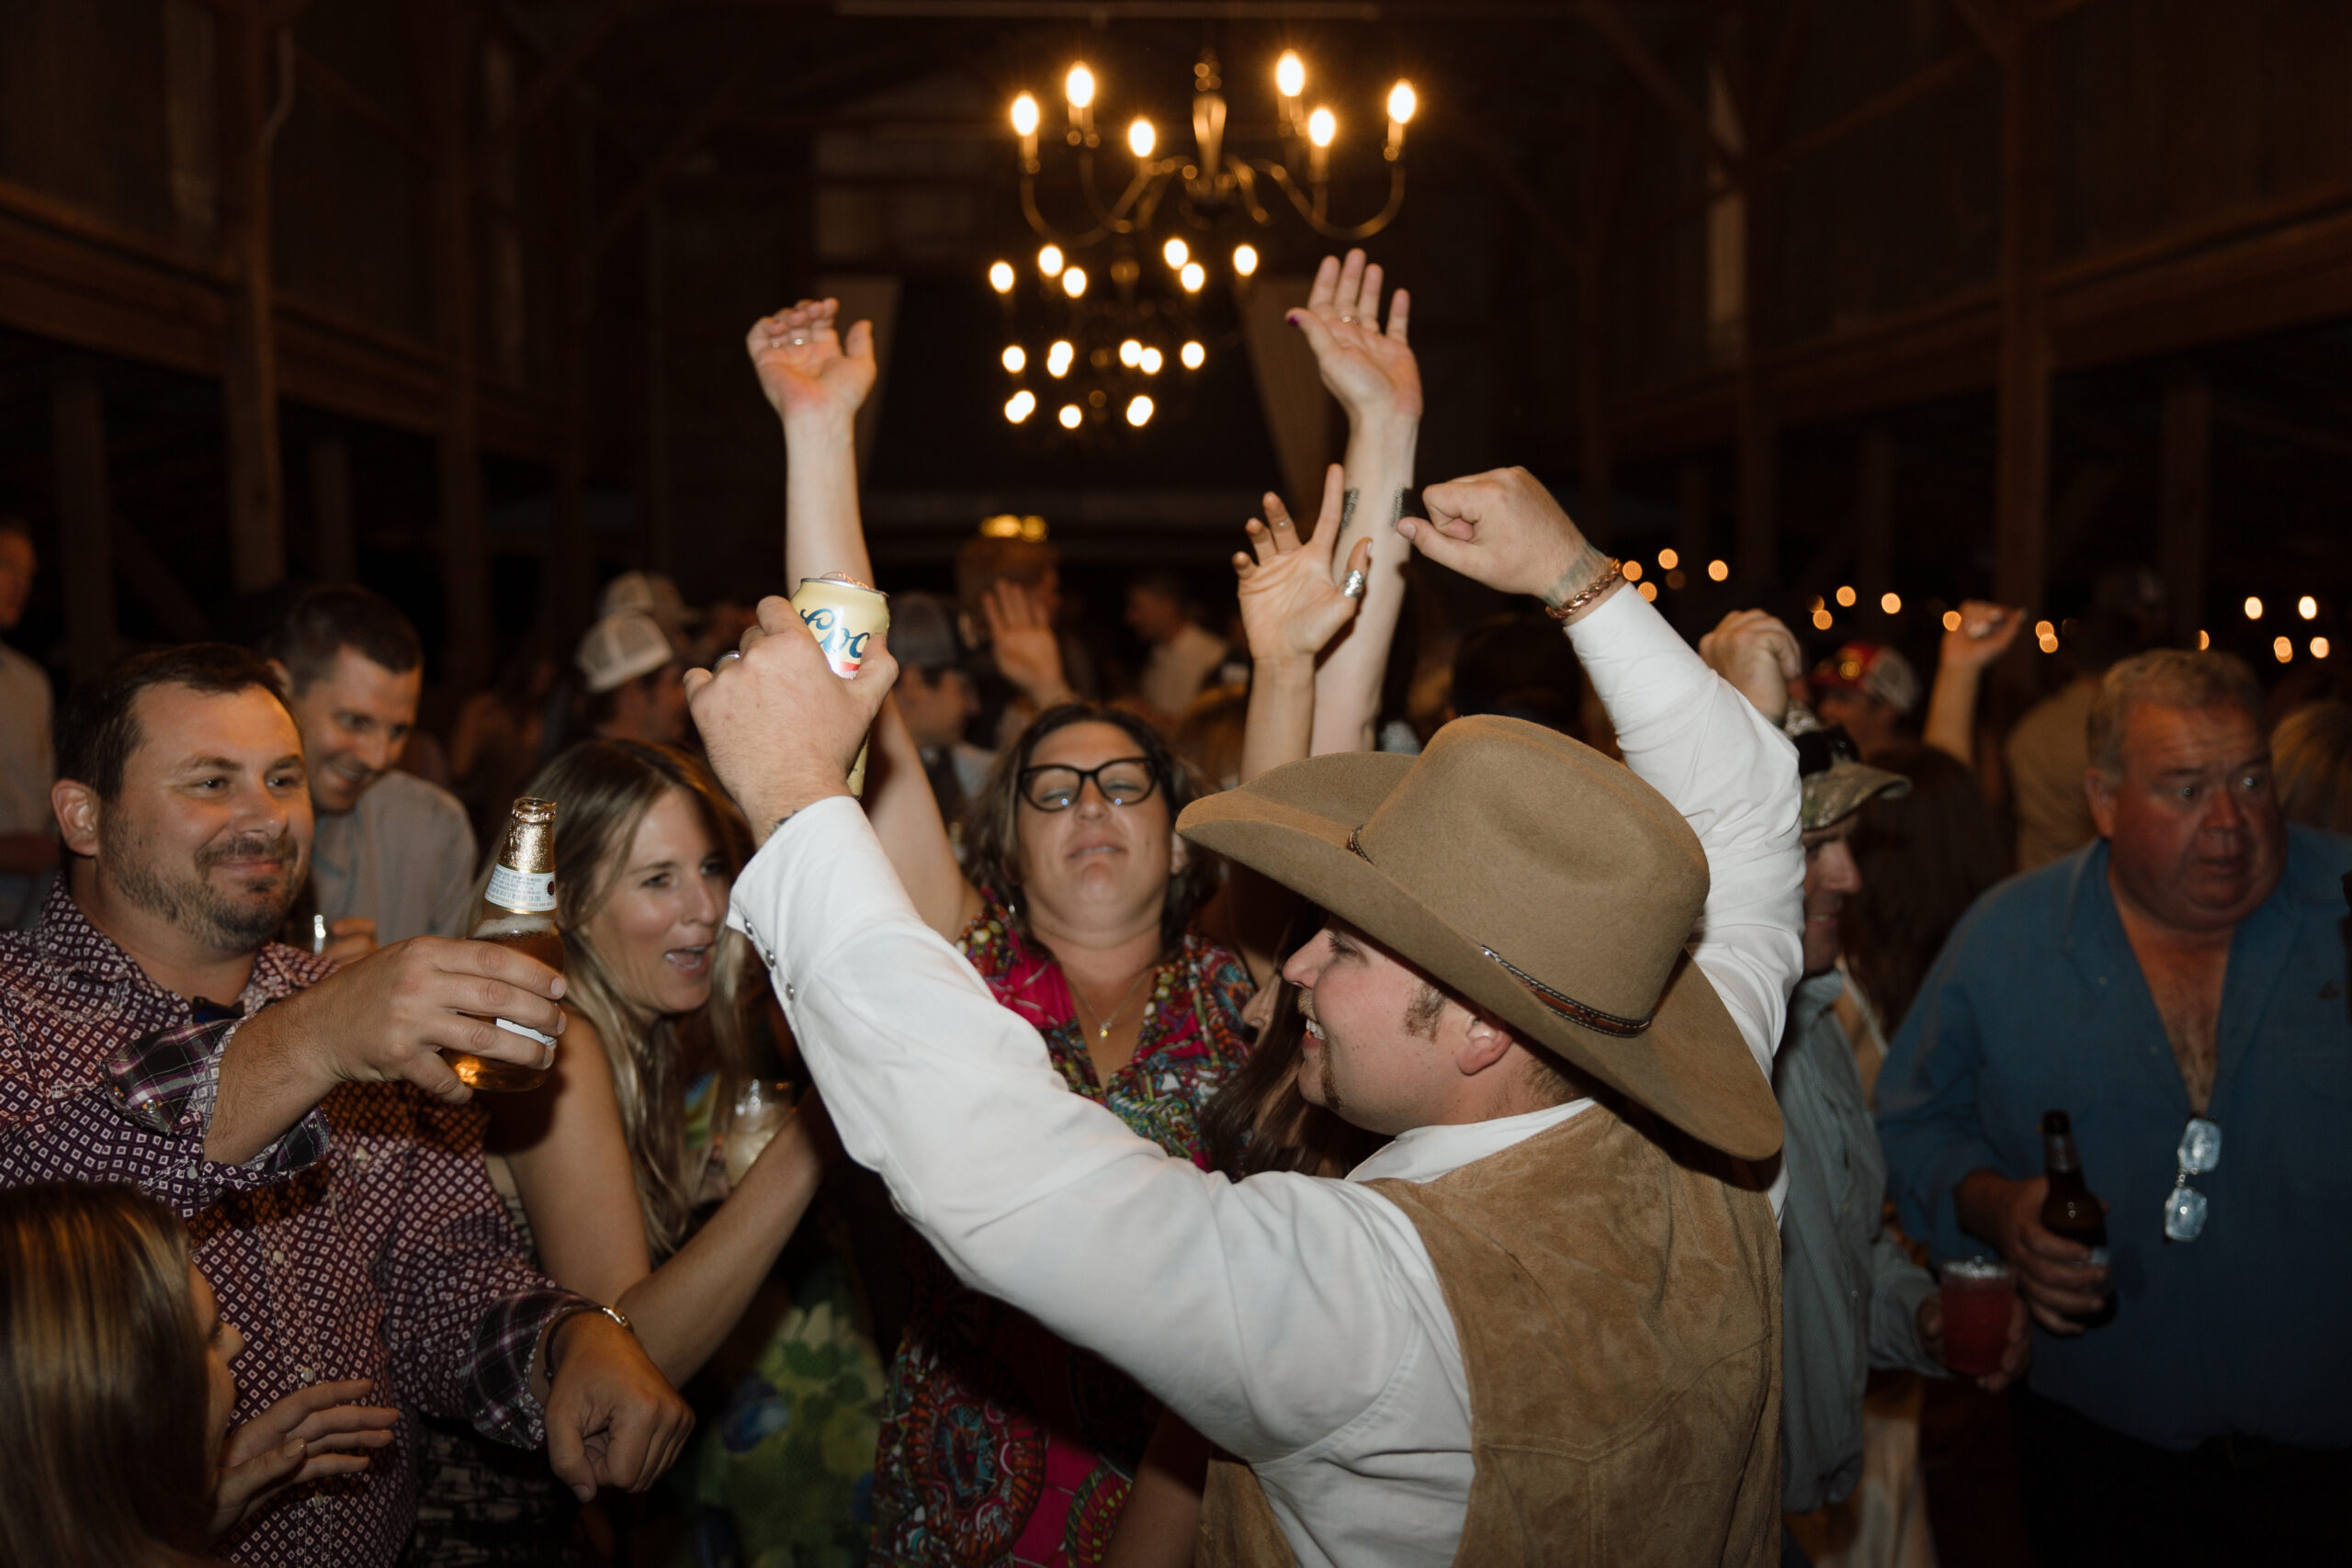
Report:
[[205,1159],[221,1051],[235,1027],[221,1020],[141,1034],[89,1084],[47,1079],[0,1051],[0,1185],[127,1180],[186,1218],[315,1164],[327,1152],[318,1110],[242,1166]]

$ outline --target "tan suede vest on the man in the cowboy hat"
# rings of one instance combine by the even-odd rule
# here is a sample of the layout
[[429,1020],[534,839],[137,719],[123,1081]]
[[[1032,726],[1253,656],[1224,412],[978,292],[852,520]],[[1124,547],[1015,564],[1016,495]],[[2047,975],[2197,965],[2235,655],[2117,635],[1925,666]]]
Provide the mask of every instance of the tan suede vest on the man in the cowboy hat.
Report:
[[[1470,1378],[1458,1568],[1780,1561],[1780,1237],[1712,1159],[1595,1107],[1374,1182],[1430,1248]],[[1244,1465],[1211,1467],[1197,1566],[1296,1566]]]

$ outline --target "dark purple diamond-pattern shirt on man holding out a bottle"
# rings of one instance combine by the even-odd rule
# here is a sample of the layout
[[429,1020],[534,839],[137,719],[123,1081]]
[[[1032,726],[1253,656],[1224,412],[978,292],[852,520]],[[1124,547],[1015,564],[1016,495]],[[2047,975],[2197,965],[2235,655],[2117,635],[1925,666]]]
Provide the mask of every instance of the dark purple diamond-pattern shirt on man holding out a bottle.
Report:
[[416,1415],[536,1448],[532,1349],[590,1302],[532,1269],[470,1105],[346,1084],[249,1164],[205,1159],[223,1046],[325,973],[270,945],[233,1004],[191,1006],[59,886],[33,931],[0,936],[0,1185],[136,1182],[188,1218],[221,1316],[245,1333],[235,1420],[308,1382],[374,1380],[369,1401],[402,1410],[393,1446],[360,1476],[278,1495],[219,1552],[388,1568],[416,1512]]

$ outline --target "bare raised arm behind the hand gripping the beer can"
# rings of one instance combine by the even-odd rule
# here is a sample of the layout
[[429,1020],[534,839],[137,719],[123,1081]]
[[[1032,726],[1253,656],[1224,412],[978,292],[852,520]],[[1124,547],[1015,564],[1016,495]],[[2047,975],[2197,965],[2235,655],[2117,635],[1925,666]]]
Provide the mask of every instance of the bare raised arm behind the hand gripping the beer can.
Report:
[[[875,383],[875,343],[868,322],[844,336],[837,313],[837,301],[804,299],[753,322],[746,339],[760,390],[783,421],[783,574],[790,583],[828,571],[875,581],[858,517],[856,458],[856,418]],[[922,755],[896,708],[884,708],[875,722],[873,750],[866,813],[924,922],[953,938],[978,912],[981,896],[955,863]]]

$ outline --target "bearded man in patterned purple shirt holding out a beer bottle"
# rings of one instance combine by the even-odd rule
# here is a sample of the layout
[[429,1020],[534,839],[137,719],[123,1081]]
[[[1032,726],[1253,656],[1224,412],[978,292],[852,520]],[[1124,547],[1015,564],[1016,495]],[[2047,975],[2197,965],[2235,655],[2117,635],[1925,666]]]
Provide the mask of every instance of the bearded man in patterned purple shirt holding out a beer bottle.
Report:
[[402,1408],[367,1474],[292,1488],[240,1563],[388,1568],[414,1516],[414,1418],[548,1446],[581,1495],[642,1490],[691,1415],[635,1338],[529,1262],[437,1056],[541,1065],[562,980],[416,938],[341,971],[273,945],[301,886],[301,733],[268,665],[141,654],[78,691],[52,792],[66,882],[0,938],[0,1182],[127,1180],[195,1234],[245,1331],[238,1420],[365,1378]]

